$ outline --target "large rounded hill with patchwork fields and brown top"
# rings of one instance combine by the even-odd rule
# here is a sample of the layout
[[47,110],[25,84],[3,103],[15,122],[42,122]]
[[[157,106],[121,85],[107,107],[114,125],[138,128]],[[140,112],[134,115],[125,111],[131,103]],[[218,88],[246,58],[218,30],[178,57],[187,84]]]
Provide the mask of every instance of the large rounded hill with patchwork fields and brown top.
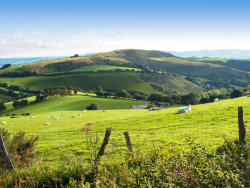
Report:
[[[72,85],[89,90],[101,85],[105,90],[125,89],[145,94],[205,91],[206,83],[213,88],[248,85],[246,71],[209,60],[183,59],[160,51],[115,50],[10,66],[0,70],[0,82],[31,89]],[[202,84],[192,83],[194,78]]]

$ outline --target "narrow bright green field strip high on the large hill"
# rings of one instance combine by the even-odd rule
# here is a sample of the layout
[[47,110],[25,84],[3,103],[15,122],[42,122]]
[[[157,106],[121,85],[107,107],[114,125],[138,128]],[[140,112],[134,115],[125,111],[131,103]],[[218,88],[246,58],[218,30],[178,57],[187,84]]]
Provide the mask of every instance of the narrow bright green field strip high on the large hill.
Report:
[[71,72],[79,72],[79,71],[93,71],[97,72],[99,70],[115,70],[115,69],[121,69],[121,70],[135,70],[140,71],[141,69],[137,68],[131,68],[131,67],[118,67],[118,66],[110,66],[110,65],[90,65],[90,66],[84,66],[78,69],[74,69]]

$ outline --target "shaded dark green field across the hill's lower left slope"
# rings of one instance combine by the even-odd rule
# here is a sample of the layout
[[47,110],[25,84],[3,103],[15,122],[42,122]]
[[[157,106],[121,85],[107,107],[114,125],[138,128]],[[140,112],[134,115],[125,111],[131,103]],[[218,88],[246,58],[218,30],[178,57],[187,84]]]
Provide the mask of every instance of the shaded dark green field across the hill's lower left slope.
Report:
[[83,90],[94,89],[101,85],[104,90],[140,91],[146,94],[154,93],[155,90],[149,83],[141,80],[136,73],[98,73],[98,74],[77,74],[62,76],[36,76],[21,78],[0,78],[0,82],[8,85],[19,85],[22,88],[44,89],[54,86],[73,86]]

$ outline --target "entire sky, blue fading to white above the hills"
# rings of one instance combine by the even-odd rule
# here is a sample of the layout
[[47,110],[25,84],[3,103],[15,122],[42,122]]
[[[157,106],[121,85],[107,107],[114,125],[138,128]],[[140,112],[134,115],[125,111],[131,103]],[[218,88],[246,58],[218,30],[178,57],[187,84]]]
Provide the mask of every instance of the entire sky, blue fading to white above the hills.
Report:
[[250,50],[248,0],[0,0],[0,57]]

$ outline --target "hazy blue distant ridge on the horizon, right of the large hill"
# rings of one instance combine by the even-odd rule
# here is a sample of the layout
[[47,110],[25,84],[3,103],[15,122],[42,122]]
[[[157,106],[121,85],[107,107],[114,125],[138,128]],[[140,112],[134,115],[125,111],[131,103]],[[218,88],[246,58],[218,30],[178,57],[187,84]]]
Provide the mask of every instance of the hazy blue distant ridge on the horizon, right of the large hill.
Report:
[[201,50],[201,51],[167,51],[178,57],[214,57],[227,59],[250,59],[250,50],[221,49],[221,50]]

